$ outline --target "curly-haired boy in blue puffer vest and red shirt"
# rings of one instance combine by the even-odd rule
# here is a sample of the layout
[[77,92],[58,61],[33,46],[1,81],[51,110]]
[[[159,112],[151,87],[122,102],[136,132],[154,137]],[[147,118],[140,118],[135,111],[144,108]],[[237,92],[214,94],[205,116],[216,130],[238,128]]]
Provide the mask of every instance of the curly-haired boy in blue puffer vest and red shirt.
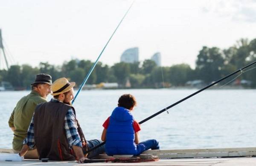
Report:
[[138,156],[148,149],[160,149],[156,140],[151,139],[139,143],[140,124],[131,113],[137,105],[130,94],[122,95],[111,116],[103,124],[102,141],[106,141],[107,155]]

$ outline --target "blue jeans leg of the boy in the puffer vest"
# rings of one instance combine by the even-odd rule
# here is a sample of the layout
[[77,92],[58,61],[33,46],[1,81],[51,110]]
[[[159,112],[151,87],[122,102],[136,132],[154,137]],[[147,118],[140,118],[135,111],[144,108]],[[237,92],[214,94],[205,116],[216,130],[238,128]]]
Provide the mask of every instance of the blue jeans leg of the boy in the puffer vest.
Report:
[[146,140],[137,144],[136,156],[140,155],[142,152],[148,149],[152,149],[152,150],[160,149],[158,141],[155,139],[151,139],[151,140]]

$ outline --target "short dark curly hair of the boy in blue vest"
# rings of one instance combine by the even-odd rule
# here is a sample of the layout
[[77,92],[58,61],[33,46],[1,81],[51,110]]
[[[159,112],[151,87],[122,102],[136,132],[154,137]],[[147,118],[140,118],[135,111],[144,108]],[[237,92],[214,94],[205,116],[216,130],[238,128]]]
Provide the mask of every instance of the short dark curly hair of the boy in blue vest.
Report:
[[118,99],[118,107],[124,107],[130,110],[137,105],[137,101],[131,94],[124,94]]

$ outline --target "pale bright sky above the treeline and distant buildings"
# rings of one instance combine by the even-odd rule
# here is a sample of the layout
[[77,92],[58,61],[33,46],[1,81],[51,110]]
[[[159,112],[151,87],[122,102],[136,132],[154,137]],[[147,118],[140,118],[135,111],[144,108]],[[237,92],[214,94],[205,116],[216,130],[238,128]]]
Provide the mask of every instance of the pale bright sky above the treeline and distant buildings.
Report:
[[[0,0],[0,28],[11,65],[95,61],[133,0]],[[195,67],[203,46],[229,48],[256,38],[256,0],[136,0],[99,61],[128,48],[139,60]],[[0,55],[0,68],[3,53]]]

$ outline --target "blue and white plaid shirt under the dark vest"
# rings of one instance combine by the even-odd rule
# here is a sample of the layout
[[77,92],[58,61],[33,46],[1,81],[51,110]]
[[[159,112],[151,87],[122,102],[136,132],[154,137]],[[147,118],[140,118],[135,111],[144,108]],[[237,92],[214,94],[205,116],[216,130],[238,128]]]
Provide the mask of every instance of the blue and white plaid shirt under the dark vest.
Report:
[[[52,98],[51,102],[58,102],[57,99]],[[66,131],[67,141],[69,143],[69,148],[72,146],[80,146],[82,147],[81,138],[77,131],[76,118],[72,108],[67,111],[67,114],[64,118],[64,129]],[[27,138],[24,139],[23,144],[27,144],[30,149],[33,149],[35,146],[35,137],[34,137],[34,116],[31,120],[28,129]]]

